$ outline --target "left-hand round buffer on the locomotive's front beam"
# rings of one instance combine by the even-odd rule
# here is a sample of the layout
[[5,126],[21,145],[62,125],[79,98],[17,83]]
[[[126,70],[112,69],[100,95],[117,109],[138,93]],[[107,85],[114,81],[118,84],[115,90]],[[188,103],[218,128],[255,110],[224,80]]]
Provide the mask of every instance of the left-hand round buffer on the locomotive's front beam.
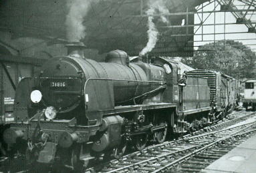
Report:
[[3,132],[3,140],[7,144],[15,144],[17,138],[23,138],[24,132],[22,130],[14,130],[12,128],[7,128],[5,132]]

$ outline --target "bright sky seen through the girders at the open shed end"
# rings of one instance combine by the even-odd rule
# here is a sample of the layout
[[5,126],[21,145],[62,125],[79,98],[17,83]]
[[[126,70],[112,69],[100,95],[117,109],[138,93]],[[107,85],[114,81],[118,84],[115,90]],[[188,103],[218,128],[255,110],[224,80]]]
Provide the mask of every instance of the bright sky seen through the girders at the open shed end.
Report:
[[[236,0],[235,0],[236,1]],[[235,2],[236,3],[236,2]],[[241,8],[240,6],[237,6],[238,8]],[[211,5],[208,5],[207,7],[204,7],[203,11],[213,11],[214,9],[214,3]],[[216,11],[220,10],[220,5],[218,5]],[[249,14],[253,12],[248,12]],[[203,14],[203,19],[205,20],[209,13],[204,13]],[[201,13],[199,13],[199,16],[202,18]],[[195,15],[195,24],[200,23],[201,20],[198,15]],[[256,22],[256,12],[253,15],[247,15],[247,18],[251,17],[251,21],[254,22],[253,26],[255,26]],[[226,18],[226,19],[225,19]],[[236,19],[233,16],[232,13],[230,12],[221,12],[221,13],[216,13],[216,18],[215,18],[216,23],[235,23]],[[225,22],[226,21],[226,22]],[[214,14],[212,13],[209,18],[205,21],[205,24],[213,24],[214,23]],[[197,30],[198,27],[195,27],[195,31]],[[239,34],[228,34],[228,33],[233,33],[233,32],[247,32],[248,28],[243,25],[216,25],[215,26],[215,33],[226,33],[226,35],[215,35],[216,40],[223,40],[223,39],[251,39],[251,40],[246,40],[246,41],[240,41],[244,45],[248,45],[248,47],[251,47],[253,51],[256,52],[256,33],[239,33]],[[202,33],[202,27],[199,28],[196,34],[201,34]],[[203,26],[203,33],[214,33],[214,26]],[[201,35],[195,35],[195,46],[200,46],[200,45],[205,45],[206,43],[212,43],[214,40],[214,35],[203,35],[203,38]],[[203,42],[202,42],[203,39]],[[210,40],[211,42],[206,42]],[[197,42],[199,41],[199,42]],[[254,44],[254,45],[252,45]],[[195,47],[197,49],[197,47]]]

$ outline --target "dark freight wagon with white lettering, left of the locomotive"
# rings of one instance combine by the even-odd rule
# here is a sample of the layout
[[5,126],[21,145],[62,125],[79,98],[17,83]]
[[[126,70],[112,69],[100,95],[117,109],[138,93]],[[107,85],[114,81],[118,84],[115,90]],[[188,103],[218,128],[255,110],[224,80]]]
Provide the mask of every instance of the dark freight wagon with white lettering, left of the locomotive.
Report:
[[42,63],[42,59],[0,54],[0,124],[13,122],[17,84],[25,77],[33,77]]

